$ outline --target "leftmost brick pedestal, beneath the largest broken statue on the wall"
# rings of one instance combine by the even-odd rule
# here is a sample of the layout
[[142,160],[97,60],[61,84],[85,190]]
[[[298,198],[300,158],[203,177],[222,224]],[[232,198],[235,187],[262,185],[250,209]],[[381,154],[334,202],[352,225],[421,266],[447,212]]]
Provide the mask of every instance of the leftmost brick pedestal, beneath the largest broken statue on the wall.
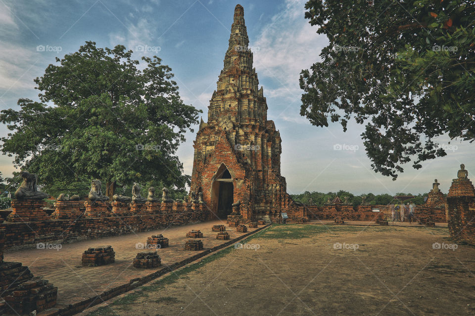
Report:
[[42,207],[46,206],[43,200],[34,199],[13,199],[11,208],[13,211],[7,216],[7,222],[36,222],[51,219]]

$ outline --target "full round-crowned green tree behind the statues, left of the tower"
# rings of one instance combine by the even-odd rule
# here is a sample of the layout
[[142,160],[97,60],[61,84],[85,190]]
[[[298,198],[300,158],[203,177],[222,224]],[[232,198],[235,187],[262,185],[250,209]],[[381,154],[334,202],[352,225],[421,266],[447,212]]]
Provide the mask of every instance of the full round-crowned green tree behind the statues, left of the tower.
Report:
[[88,41],[56,58],[35,79],[41,102],[19,99],[18,111],[1,111],[12,131],[1,151],[54,191],[84,192],[93,178],[109,196],[116,183],[184,188],[189,176],[175,153],[201,111],[183,103],[160,58],[142,65],[131,54]]

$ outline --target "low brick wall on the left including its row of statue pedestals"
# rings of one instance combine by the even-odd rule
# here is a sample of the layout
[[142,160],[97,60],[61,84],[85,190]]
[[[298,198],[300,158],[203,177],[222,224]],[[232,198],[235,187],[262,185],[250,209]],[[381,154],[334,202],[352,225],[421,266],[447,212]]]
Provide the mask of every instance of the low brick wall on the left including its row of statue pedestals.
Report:
[[[206,206],[198,202],[145,202],[140,207],[135,204],[139,203],[56,201],[49,219],[39,214],[46,214],[40,209],[44,201],[12,200],[12,212],[0,223],[0,230],[5,231],[4,246],[33,248],[38,242],[63,243],[145,232],[204,221],[208,216]],[[31,213],[25,208],[28,205]],[[135,208],[134,212],[131,208]]]

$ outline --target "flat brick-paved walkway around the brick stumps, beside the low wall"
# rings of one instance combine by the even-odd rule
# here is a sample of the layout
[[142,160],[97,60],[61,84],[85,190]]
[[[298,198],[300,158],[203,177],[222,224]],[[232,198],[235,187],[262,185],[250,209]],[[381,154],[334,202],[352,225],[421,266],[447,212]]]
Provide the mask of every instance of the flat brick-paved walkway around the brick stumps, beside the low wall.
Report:
[[[129,283],[133,278],[149,275],[165,266],[187,259],[199,251],[184,249],[186,233],[191,229],[201,230],[204,250],[222,244],[228,240],[217,240],[213,225],[226,224],[222,221],[208,221],[193,225],[174,226],[137,234],[89,239],[69,244],[60,248],[23,249],[4,253],[5,261],[21,262],[28,266],[34,276],[42,276],[58,287],[58,300],[55,308],[81,302],[113,287]],[[262,226],[261,226],[262,227]],[[236,232],[236,228],[226,229],[231,239],[244,235]],[[249,229],[248,232],[254,229]],[[170,246],[158,249],[162,259],[162,267],[156,269],[137,269],[132,266],[138,252],[136,244],[144,244],[147,237],[163,234],[170,239]],[[81,266],[82,253],[89,247],[111,245],[115,251],[115,263],[101,267]]]

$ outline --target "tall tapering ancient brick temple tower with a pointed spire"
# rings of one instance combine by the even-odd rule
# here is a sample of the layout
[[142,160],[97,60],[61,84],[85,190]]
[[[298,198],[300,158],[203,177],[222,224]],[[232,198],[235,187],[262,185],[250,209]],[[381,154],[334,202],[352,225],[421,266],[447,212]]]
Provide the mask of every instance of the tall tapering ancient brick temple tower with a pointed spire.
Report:
[[211,218],[233,212],[249,221],[275,221],[280,212],[306,219],[305,207],[286,193],[281,176],[281,137],[267,119],[263,88],[258,88],[253,55],[244,24],[244,9],[235,8],[224,68],[194,142],[190,192],[202,193]]

